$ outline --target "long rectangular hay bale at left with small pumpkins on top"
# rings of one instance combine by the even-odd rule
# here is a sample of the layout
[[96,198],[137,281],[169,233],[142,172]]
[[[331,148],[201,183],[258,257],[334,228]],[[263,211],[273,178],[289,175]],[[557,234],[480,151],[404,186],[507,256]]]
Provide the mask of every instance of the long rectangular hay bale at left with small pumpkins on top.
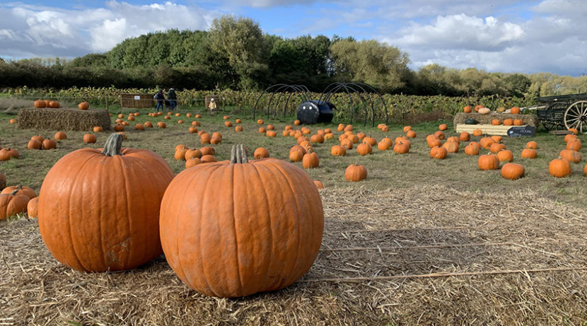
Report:
[[105,110],[25,107],[16,115],[16,122],[19,129],[91,130],[94,126],[110,129],[110,116]]

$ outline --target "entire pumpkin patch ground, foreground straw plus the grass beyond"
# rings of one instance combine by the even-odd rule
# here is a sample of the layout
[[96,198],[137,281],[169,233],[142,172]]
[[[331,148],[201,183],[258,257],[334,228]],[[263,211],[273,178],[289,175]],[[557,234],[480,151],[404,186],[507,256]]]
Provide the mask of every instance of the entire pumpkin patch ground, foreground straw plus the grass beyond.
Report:
[[[129,112],[124,110],[125,117]],[[197,134],[187,132],[194,119],[181,109],[182,116],[170,120],[140,112],[126,127],[123,146],[155,151],[179,173],[185,162],[174,160],[175,146],[203,146]],[[273,124],[278,132],[269,138],[249,116],[189,112],[202,113],[200,130],[223,134],[215,146],[219,161],[228,159],[233,144],[245,144],[250,152],[262,146],[287,160],[296,144],[281,136],[294,118],[265,119],[264,126]],[[112,113],[114,121],[118,112]],[[233,123],[243,120],[244,132],[224,127],[225,114]],[[38,193],[59,158],[88,146],[82,141],[86,132],[66,131],[57,149],[28,150],[30,136],[52,137],[57,130],[18,129],[8,123],[12,117],[0,113],[0,146],[20,153],[0,162],[8,185]],[[134,130],[134,123],[146,121],[165,121],[167,128]],[[449,124],[446,135],[456,135],[448,121],[414,124],[417,137],[405,155],[375,148],[368,156],[353,149],[334,157],[330,147],[336,140],[314,146],[320,166],[308,173],[326,187],[320,192],[322,249],[301,281],[274,293],[239,299],[199,295],[183,286],[163,256],[129,272],[74,272],[52,258],[36,221],[0,221],[0,324],[587,325],[585,161],[574,164],[569,177],[550,176],[548,163],[564,141],[541,130],[532,139],[504,139],[514,162],[525,166],[525,177],[506,180],[499,170],[479,170],[477,156],[466,156],[463,143],[445,160],[430,158],[426,135],[443,122]],[[338,123],[309,127],[331,128],[336,139]],[[384,133],[355,124],[354,131],[394,139],[404,134],[402,127],[390,125]],[[109,133],[95,134],[98,142],[89,146],[99,148]],[[585,143],[586,136],[579,138]],[[537,141],[538,158],[523,159],[530,140]],[[366,166],[365,181],[344,180],[351,163]]]

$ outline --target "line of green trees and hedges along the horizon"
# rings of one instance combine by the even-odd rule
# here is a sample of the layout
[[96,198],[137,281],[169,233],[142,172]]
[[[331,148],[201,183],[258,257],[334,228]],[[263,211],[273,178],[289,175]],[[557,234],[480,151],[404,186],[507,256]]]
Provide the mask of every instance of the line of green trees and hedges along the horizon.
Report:
[[413,71],[406,52],[376,40],[263,33],[250,18],[223,16],[207,31],[168,30],[129,38],[106,53],[71,60],[0,60],[0,87],[262,90],[275,83],[320,92],[333,82],[381,93],[535,97],[587,93],[587,76],[488,73],[438,64]]

